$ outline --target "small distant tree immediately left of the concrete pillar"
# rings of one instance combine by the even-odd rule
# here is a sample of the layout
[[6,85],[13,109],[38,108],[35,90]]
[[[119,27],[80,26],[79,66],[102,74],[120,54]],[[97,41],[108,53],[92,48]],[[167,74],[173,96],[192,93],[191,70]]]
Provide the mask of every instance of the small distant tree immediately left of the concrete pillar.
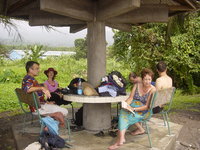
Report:
[[76,39],[74,41],[74,45],[75,45],[75,51],[76,51],[75,58],[76,59],[87,58],[87,41],[86,41],[86,38]]

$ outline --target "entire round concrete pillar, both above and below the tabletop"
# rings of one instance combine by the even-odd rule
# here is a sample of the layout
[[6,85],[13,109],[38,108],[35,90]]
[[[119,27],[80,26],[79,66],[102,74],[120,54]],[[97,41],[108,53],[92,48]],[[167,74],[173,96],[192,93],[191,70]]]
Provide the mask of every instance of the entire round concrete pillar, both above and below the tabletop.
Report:
[[[89,22],[88,26],[88,82],[94,87],[106,75],[105,23]],[[84,104],[83,126],[90,131],[109,129],[111,126],[111,104]]]

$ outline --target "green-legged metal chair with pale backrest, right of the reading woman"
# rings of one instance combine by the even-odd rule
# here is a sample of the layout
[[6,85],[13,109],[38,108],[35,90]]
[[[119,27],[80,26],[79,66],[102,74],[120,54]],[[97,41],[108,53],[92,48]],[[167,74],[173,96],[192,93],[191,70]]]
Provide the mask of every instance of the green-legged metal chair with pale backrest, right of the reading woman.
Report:
[[[152,98],[151,98],[151,103],[150,103],[150,109],[149,109],[149,113],[146,114],[146,116],[144,117],[144,119],[142,120],[142,123],[144,123],[144,125],[146,126],[146,131],[148,134],[148,140],[149,140],[149,145],[152,148],[152,141],[151,141],[151,137],[150,137],[150,132],[149,132],[149,126],[148,126],[148,121],[151,119],[152,115],[153,115],[153,108],[155,106],[161,106],[163,104],[166,104],[169,102],[169,107],[166,111],[163,111],[162,114],[164,117],[164,122],[167,121],[167,126],[168,126],[168,133],[170,134],[170,127],[169,127],[169,122],[168,122],[168,115],[167,113],[169,112],[170,108],[171,108],[171,104],[172,104],[172,99],[174,96],[174,92],[175,92],[175,88],[169,88],[169,89],[164,89],[164,90],[159,90],[156,91]],[[166,119],[166,120],[165,120]]]

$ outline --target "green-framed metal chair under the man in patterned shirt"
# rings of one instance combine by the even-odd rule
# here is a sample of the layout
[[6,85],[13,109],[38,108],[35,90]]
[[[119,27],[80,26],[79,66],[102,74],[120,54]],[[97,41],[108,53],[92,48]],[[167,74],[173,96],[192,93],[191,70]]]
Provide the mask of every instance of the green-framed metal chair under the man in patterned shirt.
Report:
[[[23,133],[25,131],[24,126],[25,126],[27,114],[32,115],[32,121],[33,121],[33,113],[31,113],[30,111],[26,111],[26,109],[24,109],[24,107],[23,107],[23,103],[28,104],[29,106],[35,107],[37,115],[39,117],[39,122],[40,122],[40,125],[41,125],[41,127],[40,127],[40,133],[41,133],[41,131],[44,127],[44,124],[42,123],[42,115],[40,114],[40,112],[38,110],[40,108],[40,103],[39,103],[39,99],[38,99],[37,94],[35,92],[26,93],[25,91],[23,91],[20,88],[16,88],[15,92],[16,92],[16,95],[18,97],[20,107],[21,107],[22,111],[25,113],[25,117],[24,117],[24,120],[23,120]],[[69,124],[68,119],[66,119],[66,128],[68,129],[68,136],[69,136],[68,140],[70,141],[71,140],[70,139],[71,130],[70,130],[70,124]]]

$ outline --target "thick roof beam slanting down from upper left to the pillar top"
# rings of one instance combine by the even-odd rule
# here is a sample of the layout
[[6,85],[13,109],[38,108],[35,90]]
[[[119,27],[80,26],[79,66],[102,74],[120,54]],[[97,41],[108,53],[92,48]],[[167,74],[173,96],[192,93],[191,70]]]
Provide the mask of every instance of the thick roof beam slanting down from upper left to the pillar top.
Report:
[[[84,4],[86,2],[88,2],[89,5],[90,1],[84,0]],[[79,20],[93,20],[92,8],[88,9],[88,7],[81,4],[81,1],[77,4],[75,1],[71,0],[40,0],[40,9]]]

